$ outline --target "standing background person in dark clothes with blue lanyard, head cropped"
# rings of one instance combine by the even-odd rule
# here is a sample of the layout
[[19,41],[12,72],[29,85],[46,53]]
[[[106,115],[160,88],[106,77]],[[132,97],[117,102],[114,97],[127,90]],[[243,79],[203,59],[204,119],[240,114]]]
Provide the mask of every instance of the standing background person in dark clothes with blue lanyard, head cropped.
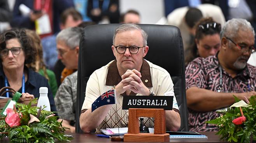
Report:
[[88,0],[87,14],[96,23],[118,23],[119,0]]

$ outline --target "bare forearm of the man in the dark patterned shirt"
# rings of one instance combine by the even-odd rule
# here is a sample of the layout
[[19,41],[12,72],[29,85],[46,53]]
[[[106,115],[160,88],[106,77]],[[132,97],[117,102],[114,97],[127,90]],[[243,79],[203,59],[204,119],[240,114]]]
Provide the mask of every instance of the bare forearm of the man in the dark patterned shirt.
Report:
[[230,106],[235,102],[233,95],[242,99],[245,94],[214,92],[197,87],[191,87],[186,90],[188,107],[200,112],[208,112]]

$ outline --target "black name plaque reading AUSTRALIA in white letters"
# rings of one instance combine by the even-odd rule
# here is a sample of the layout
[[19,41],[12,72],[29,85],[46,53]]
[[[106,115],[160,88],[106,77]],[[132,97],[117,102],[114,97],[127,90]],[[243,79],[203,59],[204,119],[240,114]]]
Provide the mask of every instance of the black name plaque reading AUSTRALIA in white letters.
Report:
[[146,108],[172,110],[173,96],[123,96],[123,109]]

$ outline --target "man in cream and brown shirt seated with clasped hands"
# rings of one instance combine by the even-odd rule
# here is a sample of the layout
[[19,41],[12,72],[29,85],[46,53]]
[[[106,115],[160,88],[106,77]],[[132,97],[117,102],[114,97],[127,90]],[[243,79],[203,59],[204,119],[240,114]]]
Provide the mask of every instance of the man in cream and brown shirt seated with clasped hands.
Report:
[[[125,95],[174,95],[170,74],[163,68],[143,59],[149,47],[147,34],[135,24],[117,27],[112,51],[116,60],[96,70],[86,86],[86,96],[80,116],[80,127],[85,133],[105,128],[127,127],[128,110],[122,110]],[[104,92],[116,89],[117,104],[98,107],[91,112],[91,104]],[[173,110],[165,111],[167,128],[177,131],[181,125],[179,107],[174,98]],[[153,127],[152,118],[144,124]]]

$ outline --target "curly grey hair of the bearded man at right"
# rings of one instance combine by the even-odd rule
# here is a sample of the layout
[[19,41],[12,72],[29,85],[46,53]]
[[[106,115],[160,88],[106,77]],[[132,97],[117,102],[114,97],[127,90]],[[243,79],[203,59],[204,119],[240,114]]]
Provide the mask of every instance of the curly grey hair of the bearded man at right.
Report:
[[220,33],[221,39],[222,37],[226,37],[226,36],[229,38],[235,37],[240,28],[251,30],[253,35],[255,36],[254,29],[250,24],[250,22],[248,22],[245,19],[231,19],[231,20],[228,20],[222,27],[221,33]]

